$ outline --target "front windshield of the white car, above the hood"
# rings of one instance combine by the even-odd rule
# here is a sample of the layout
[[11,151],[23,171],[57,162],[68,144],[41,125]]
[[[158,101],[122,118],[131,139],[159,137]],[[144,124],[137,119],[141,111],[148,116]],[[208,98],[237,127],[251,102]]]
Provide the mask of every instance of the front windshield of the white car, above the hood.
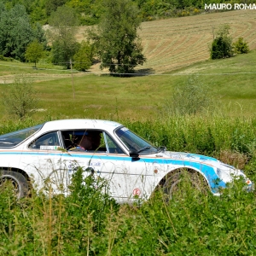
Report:
[[125,143],[127,148],[136,150],[139,154],[154,154],[158,152],[157,148],[144,141],[143,138],[138,137],[126,127],[119,128],[115,133]]

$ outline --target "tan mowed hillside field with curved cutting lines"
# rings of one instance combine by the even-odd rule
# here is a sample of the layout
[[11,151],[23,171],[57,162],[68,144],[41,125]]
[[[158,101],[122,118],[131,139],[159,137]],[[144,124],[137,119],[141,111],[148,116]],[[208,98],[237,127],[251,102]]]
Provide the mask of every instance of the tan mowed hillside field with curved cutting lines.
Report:
[[[236,10],[143,22],[138,32],[142,39],[143,54],[148,61],[137,69],[165,73],[206,61],[210,55],[213,31],[222,24],[230,25],[230,35],[234,41],[242,37],[250,49],[256,49],[255,14],[255,10]],[[85,30],[86,27],[79,28],[79,41],[84,38]],[[91,71],[101,72],[99,64],[92,67]]]

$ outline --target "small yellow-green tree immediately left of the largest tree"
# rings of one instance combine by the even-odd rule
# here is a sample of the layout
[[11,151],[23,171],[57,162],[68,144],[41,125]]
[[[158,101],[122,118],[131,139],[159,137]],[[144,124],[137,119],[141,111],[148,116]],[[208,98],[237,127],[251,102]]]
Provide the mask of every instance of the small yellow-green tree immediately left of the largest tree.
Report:
[[93,50],[89,42],[82,41],[79,50],[73,56],[74,68],[79,71],[86,71],[92,65]]

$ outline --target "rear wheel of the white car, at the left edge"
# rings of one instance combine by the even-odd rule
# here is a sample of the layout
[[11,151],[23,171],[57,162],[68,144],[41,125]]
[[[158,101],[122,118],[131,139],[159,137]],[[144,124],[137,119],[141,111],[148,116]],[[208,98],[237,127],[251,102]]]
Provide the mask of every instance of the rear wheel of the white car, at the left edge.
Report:
[[29,189],[26,177],[20,172],[0,171],[0,188],[7,182],[13,185],[17,198],[24,197],[28,194]]

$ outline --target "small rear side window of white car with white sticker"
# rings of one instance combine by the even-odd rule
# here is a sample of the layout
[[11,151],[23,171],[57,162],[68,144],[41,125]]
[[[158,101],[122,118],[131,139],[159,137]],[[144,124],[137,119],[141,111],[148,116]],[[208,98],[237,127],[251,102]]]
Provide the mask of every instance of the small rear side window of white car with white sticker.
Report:
[[60,148],[57,132],[49,132],[34,140],[28,148],[41,150],[56,150]]

